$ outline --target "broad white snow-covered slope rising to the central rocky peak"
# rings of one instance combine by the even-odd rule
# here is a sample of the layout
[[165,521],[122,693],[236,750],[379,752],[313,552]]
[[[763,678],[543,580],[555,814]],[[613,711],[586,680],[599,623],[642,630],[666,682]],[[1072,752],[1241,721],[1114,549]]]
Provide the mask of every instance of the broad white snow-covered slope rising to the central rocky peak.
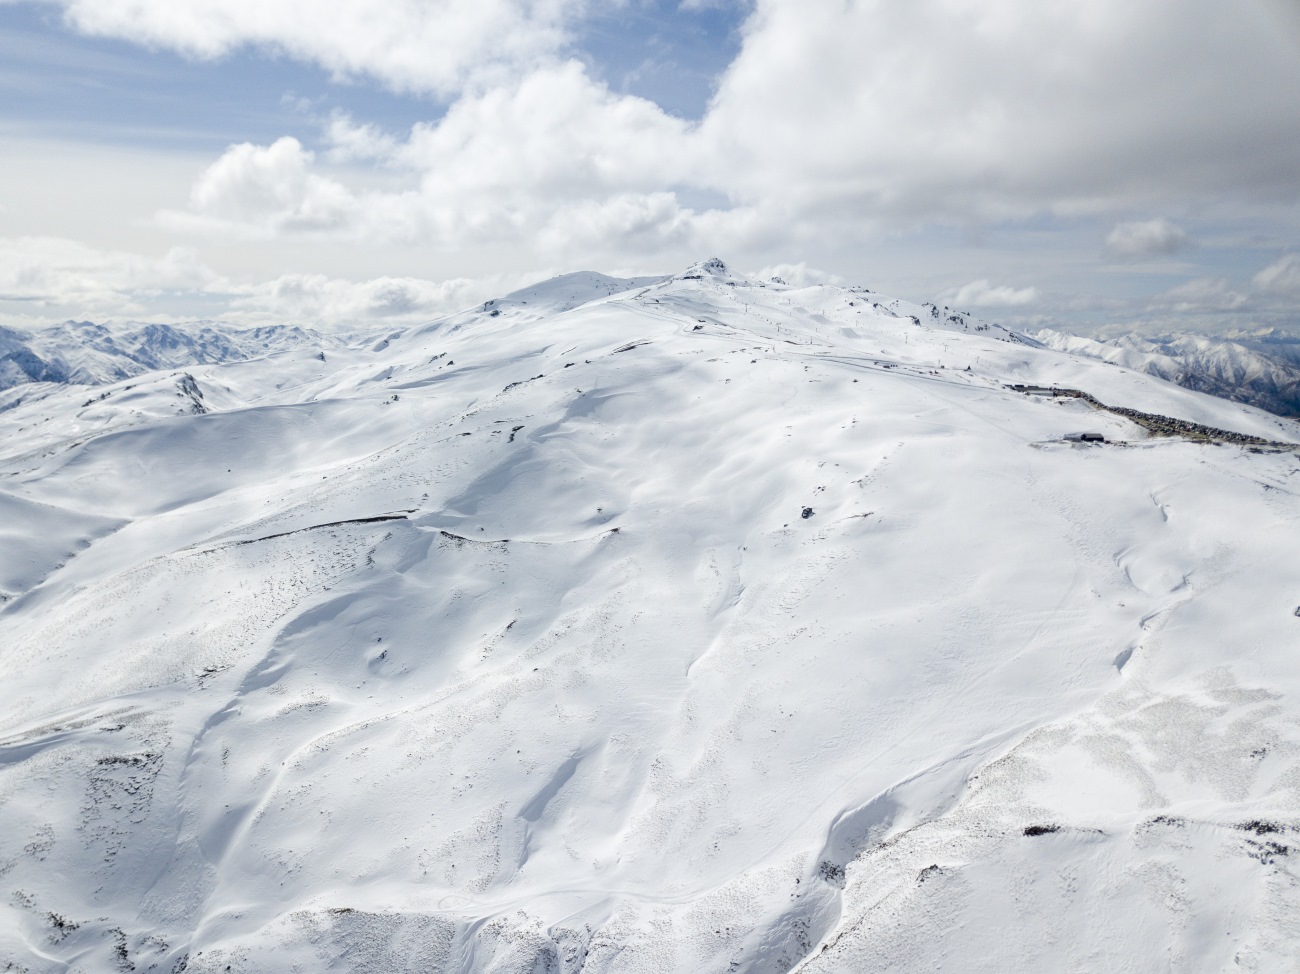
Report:
[[1300,969],[1300,459],[1006,385],[1296,424],[716,261],[188,376],[0,414],[0,967]]

